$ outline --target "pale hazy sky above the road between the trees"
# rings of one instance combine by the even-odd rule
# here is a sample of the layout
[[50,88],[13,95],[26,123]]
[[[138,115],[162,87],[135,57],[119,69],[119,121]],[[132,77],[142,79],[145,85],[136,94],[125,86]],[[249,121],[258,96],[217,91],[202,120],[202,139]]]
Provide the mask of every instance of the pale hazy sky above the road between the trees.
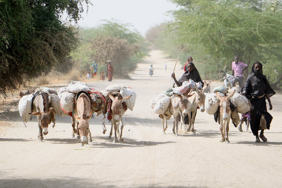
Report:
[[146,31],[165,20],[165,12],[177,9],[175,4],[167,0],[96,0],[91,1],[93,6],[88,9],[88,14],[83,13],[83,19],[78,21],[80,27],[95,27],[100,20],[111,18],[121,23],[130,23],[143,36]]

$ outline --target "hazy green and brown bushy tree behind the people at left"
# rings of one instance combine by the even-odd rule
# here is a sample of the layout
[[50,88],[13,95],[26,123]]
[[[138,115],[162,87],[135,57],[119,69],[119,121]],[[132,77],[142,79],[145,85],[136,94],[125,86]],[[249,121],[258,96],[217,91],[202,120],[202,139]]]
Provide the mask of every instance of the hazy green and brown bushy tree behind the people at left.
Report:
[[148,44],[139,32],[129,29],[129,24],[114,20],[103,22],[95,28],[80,30],[79,37],[83,39],[83,44],[78,52],[71,55],[72,59],[80,62],[82,57],[84,72],[88,71],[92,61],[100,65],[111,60],[114,75],[127,76],[147,55]]

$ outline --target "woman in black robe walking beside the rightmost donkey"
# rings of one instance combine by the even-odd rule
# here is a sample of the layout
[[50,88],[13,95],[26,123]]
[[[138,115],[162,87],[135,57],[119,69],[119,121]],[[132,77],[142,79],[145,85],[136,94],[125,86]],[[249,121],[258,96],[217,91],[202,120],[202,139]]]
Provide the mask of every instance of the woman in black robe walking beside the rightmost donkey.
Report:
[[[267,112],[266,99],[269,103],[269,110],[272,110],[270,97],[274,94],[275,91],[269,85],[266,76],[263,75],[262,64],[256,61],[242,88],[242,95],[246,95],[251,102],[250,125],[253,134],[256,136],[256,142],[260,142],[259,138],[263,142],[267,142],[267,138],[263,135],[263,132],[264,129],[270,128],[272,116]],[[260,134],[259,130],[261,130]]]

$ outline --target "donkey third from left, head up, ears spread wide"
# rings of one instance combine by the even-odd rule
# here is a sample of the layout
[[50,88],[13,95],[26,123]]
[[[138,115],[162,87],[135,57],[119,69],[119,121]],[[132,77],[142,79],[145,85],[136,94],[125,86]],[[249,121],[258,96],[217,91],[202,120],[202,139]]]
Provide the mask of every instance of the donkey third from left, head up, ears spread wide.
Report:
[[[125,102],[126,100],[130,99],[132,95],[123,97],[121,95],[119,96],[113,96],[109,93],[109,97],[112,100],[112,105],[111,105],[111,110],[112,110],[112,117],[111,123],[111,131],[109,138],[112,138],[113,135],[113,127],[115,128],[115,138],[114,138],[114,143],[118,141],[123,141],[122,139],[122,130],[123,130],[123,123],[122,123],[122,115],[125,113],[125,110],[123,108],[122,102]],[[121,125],[120,125],[121,122]],[[120,125],[120,130],[119,130],[119,125]]]

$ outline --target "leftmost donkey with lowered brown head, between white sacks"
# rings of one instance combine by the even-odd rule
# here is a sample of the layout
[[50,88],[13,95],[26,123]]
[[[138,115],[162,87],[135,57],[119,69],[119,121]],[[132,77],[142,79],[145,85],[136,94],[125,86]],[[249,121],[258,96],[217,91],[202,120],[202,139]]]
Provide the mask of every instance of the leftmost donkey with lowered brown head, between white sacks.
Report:
[[32,113],[29,113],[31,115],[36,115],[37,121],[38,121],[38,139],[40,142],[43,140],[42,130],[43,134],[48,134],[48,125],[53,121],[55,125],[55,119],[54,114],[52,112],[53,106],[50,107],[50,103],[48,103],[48,98],[45,93],[40,91],[35,98],[33,99],[32,103]]

